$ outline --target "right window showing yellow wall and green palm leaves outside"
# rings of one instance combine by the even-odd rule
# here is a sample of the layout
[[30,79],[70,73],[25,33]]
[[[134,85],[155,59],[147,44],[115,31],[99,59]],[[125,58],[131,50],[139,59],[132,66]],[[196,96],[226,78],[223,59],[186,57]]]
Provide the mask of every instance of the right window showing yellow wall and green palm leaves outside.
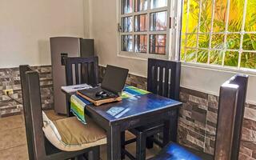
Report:
[[184,0],[181,60],[256,69],[255,0]]

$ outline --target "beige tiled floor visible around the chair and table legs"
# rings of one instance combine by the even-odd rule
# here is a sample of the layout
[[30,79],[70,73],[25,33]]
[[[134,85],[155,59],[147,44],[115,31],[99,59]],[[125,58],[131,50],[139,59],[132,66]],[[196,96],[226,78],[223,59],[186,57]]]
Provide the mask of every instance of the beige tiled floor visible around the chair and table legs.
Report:
[[[55,115],[54,110],[47,110],[46,114],[52,120],[64,118],[63,116]],[[126,133],[126,138],[133,138],[133,135]],[[134,143],[126,147],[130,153],[135,153],[136,146]],[[146,150],[146,157],[154,156],[159,150],[157,146],[154,146],[151,150]],[[22,115],[0,118],[0,155],[0,160],[28,159],[26,130]],[[101,146],[101,158],[102,160],[106,159],[106,146]]]

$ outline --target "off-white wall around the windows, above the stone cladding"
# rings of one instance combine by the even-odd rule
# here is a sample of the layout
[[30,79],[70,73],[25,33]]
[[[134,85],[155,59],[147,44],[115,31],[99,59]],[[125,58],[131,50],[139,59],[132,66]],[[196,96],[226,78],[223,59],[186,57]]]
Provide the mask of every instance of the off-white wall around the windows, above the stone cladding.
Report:
[[[130,73],[146,77],[146,61],[118,57],[116,0],[90,0],[90,38],[95,39],[99,63],[130,69]],[[181,85],[193,90],[218,95],[219,86],[235,73],[182,65]],[[255,74],[256,75],[256,74]],[[256,104],[256,77],[250,76],[247,102]]]

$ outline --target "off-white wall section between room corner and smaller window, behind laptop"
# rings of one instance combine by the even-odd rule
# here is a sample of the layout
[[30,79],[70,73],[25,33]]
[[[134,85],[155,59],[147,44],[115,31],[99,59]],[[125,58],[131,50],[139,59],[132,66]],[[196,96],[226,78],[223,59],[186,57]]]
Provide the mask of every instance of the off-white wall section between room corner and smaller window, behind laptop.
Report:
[[133,74],[146,76],[146,61],[118,57],[116,0],[90,0],[90,38],[102,65],[113,64],[130,69]]

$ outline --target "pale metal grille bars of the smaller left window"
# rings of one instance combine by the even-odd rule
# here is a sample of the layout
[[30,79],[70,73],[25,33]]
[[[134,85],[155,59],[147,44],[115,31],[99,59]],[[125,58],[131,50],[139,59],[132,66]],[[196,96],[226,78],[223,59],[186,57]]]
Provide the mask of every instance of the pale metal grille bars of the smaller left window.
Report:
[[[118,22],[120,25],[118,25],[119,27],[119,32],[120,34],[118,34],[118,42],[120,45],[118,45],[119,50],[120,50],[120,54],[121,55],[125,55],[125,56],[129,56],[129,57],[137,57],[137,58],[169,58],[169,46],[170,46],[170,0],[166,1],[166,6],[162,6],[162,7],[158,7],[158,8],[152,8],[152,5],[156,5],[154,2],[154,0],[147,0],[147,8],[146,10],[141,10],[141,11],[136,11],[138,10],[137,8],[139,8],[139,1],[138,0],[132,0],[132,1],[127,1],[127,0],[118,0],[119,1],[119,19]],[[161,0],[160,0],[161,1]],[[127,5],[129,2],[132,2],[133,6],[132,6],[132,12],[130,13],[124,13],[123,11],[123,5]],[[137,7],[135,6],[135,2],[137,2]],[[135,8],[136,7],[136,8]],[[154,13],[160,13],[160,12],[166,12],[166,30],[150,30],[150,16],[155,17],[156,15]],[[146,19],[145,19],[145,24],[146,24],[146,30],[142,30],[142,31],[138,31],[141,30],[140,27],[138,26],[138,30],[135,30],[135,17],[137,17],[137,20],[140,21],[140,17],[139,15],[146,15]],[[132,30],[127,32],[127,28],[129,28],[129,26],[124,27],[123,22],[126,21],[126,23],[128,23],[128,17],[132,18]],[[155,21],[151,22],[153,24],[153,26],[155,25]],[[166,35],[166,46],[159,46],[158,44],[156,44],[154,41],[155,39],[153,39],[153,42],[150,42],[150,36],[152,37],[153,35]],[[135,41],[135,37],[138,35],[146,35],[146,38],[143,37],[139,38],[138,37],[138,41],[141,41],[142,43],[146,41],[146,45],[142,46],[142,51],[139,52],[137,49],[135,49],[135,45],[136,43],[138,44],[138,42]],[[126,46],[126,43],[123,42],[124,36],[132,36],[132,48],[130,51],[125,50],[123,47]],[[162,47],[165,48],[165,53],[164,54],[158,54],[158,53],[150,53],[150,44],[153,44],[154,46],[152,46],[153,49],[151,50],[155,50],[158,51],[160,50]],[[131,43],[130,43],[131,44]],[[146,50],[146,52],[145,52]]]

